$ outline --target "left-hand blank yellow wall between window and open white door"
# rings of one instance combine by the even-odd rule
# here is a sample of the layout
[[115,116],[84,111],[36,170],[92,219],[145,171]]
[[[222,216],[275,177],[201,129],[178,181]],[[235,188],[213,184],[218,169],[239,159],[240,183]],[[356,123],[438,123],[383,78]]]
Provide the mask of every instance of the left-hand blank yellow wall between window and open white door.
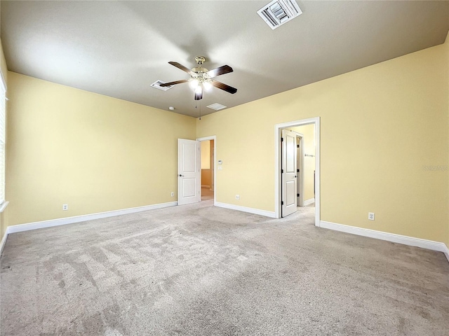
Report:
[[8,92],[8,225],[177,200],[194,118],[13,72]]

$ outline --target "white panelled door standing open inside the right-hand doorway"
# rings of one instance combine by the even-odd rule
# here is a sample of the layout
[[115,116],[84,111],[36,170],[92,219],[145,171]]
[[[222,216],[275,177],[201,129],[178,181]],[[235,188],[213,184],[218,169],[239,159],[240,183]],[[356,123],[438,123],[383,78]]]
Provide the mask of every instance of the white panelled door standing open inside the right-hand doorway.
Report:
[[299,134],[282,130],[282,217],[293,214],[297,207],[297,147]]

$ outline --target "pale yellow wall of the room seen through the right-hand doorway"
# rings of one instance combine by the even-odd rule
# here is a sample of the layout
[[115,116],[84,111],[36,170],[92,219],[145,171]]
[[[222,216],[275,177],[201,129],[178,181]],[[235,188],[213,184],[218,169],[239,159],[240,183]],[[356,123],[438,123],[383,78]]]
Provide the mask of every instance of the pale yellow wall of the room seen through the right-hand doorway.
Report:
[[315,157],[315,126],[313,124],[292,127],[291,130],[303,135],[302,160],[304,161],[304,201],[311,200],[314,195]]

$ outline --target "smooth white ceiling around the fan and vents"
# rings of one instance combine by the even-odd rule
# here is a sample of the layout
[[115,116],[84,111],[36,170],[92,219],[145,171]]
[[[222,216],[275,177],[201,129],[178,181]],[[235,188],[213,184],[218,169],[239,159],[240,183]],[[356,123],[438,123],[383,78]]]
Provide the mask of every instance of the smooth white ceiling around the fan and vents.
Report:
[[[257,15],[267,1],[1,1],[8,69],[189,116],[213,113],[441,44],[449,1],[300,1],[302,15],[272,30]],[[197,109],[168,64],[228,64]]]

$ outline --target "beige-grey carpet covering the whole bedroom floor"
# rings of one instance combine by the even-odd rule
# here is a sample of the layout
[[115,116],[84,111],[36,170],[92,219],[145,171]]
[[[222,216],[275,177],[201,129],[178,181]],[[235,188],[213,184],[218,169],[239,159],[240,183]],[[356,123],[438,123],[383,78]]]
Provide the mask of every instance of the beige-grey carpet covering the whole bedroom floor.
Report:
[[443,253],[211,202],[10,235],[1,335],[448,335]]

